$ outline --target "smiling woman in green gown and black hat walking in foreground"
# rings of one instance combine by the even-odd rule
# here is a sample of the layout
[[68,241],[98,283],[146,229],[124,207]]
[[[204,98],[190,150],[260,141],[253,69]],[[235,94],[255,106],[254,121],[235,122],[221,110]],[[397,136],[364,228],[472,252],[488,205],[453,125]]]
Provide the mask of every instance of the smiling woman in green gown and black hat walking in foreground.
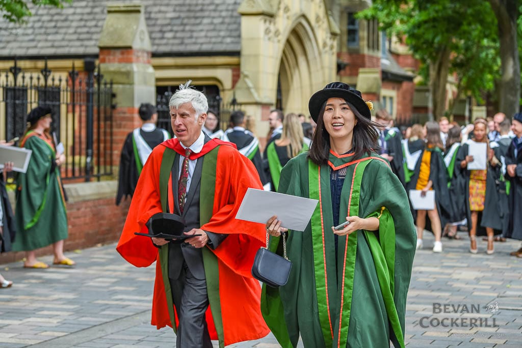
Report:
[[[404,347],[416,245],[405,189],[372,150],[377,132],[359,91],[330,83],[309,109],[317,122],[310,152],[283,168],[278,191],[319,202],[304,231],[285,233],[290,278],[263,288],[262,313],[285,348],[299,337],[311,348]],[[277,216],[266,224],[279,253],[281,224]]]

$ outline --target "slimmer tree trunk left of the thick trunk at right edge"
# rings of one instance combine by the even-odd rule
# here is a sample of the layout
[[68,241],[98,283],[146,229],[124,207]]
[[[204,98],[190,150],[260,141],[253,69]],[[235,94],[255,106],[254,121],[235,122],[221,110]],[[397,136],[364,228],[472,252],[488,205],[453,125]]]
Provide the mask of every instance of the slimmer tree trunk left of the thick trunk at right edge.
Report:
[[447,46],[441,47],[438,55],[430,64],[430,94],[432,109],[429,120],[439,119],[446,110],[446,83],[449,73],[449,55],[451,54]]

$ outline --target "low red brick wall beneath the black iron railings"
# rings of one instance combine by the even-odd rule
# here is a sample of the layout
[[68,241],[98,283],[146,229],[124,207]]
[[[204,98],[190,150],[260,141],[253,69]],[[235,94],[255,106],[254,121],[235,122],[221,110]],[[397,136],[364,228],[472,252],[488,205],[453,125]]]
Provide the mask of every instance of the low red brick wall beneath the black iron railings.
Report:
[[[123,201],[119,206],[114,204],[114,200],[115,197],[110,197],[67,203],[69,237],[65,240],[65,251],[112,243],[120,238],[131,200]],[[36,251],[37,256],[52,253],[51,245]],[[0,264],[16,262],[23,257],[25,252],[2,254]],[[71,258],[74,259],[74,255]]]

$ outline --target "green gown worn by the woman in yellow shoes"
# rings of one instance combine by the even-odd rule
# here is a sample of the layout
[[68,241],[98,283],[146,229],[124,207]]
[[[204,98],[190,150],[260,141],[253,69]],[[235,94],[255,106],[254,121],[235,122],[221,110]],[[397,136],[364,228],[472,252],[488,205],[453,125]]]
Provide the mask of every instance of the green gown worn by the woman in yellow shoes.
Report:
[[32,154],[27,172],[17,178],[13,251],[31,251],[67,238],[67,214],[60,169],[54,165],[54,147],[33,131],[26,134],[22,146]]

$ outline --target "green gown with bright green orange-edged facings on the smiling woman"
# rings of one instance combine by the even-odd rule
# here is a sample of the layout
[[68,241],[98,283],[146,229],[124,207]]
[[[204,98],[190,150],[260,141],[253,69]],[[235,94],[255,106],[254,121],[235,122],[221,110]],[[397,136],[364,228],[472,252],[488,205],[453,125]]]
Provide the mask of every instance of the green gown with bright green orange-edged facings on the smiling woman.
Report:
[[[300,154],[281,172],[279,192],[319,200],[305,231],[288,233],[289,281],[263,287],[262,313],[282,347],[404,346],[406,295],[417,241],[408,197],[387,161],[330,152],[318,167]],[[333,221],[330,168],[347,167],[339,221]],[[378,217],[378,231],[339,237],[346,216]],[[281,237],[271,238],[282,253]]]

